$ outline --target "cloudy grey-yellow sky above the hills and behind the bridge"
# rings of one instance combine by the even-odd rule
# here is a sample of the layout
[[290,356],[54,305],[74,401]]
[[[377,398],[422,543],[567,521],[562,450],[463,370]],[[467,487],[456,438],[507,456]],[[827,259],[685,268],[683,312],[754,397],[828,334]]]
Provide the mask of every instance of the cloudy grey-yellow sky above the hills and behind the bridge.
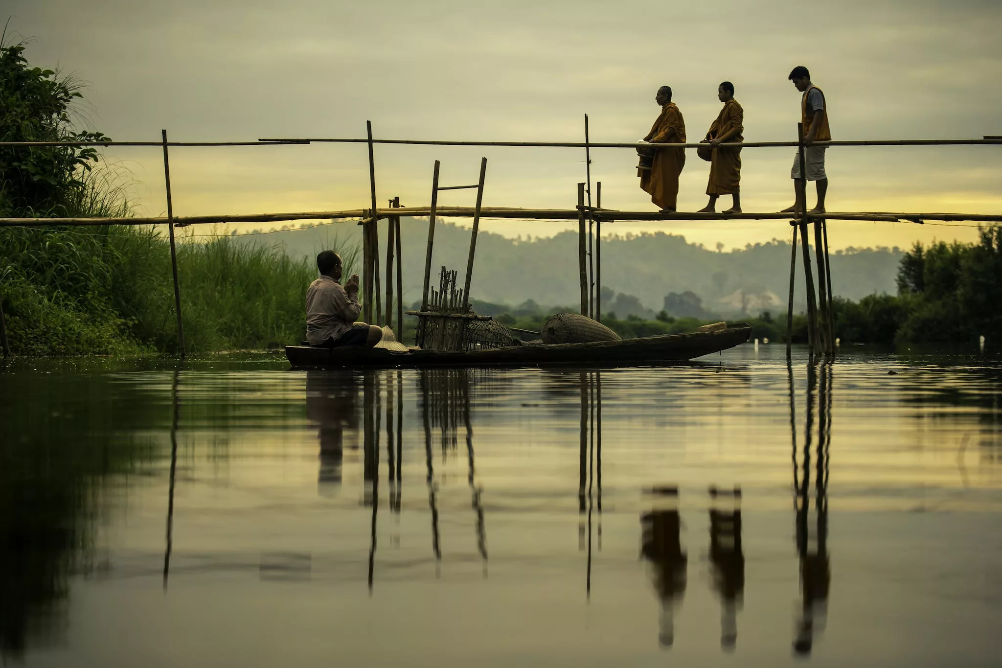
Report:
[[[6,14],[7,16],[2,16]],[[86,83],[79,122],[117,140],[259,137],[636,141],[670,85],[690,141],[702,138],[733,82],[746,141],[795,140],[811,69],[835,139],[980,138],[1002,134],[1002,3],[989,0],[6,0],[8,33],[33,65]],[[8,40],[10,39],[8,35]],[[427,205],[442,182],[476,181],[484,204],[570,208],[583,149],[378,145],[381,202]],[[137,213],[166,209],[158,148],[108,148]],[[745,211],[792,203],[792,148],[742,152]],[[171,150],[177,215],[339,210],[369,205],[365,145]],[[833,147],[832,211],[1002,212],[1002,146]],[[654,210],[631,149],[592,152],[602,205]],[[706,203],[709,165],[689,151],[679,209]],[[813,204],[814,194],[809,193]],[[472,191],[443,193],[470,205]],[[729,206],[729,197],[721,197]],[[574,224],[574,223],[569,223]],[[551,235],[567,222],[485,221],[508,236]],[[262,225],[252,225],[262,227]],[[612,229],[609,229],[612,227]],[[910,246],[973,240],[970,226],[833,221],[830,241]],[[785,221],[615,223],[740,247],[786,238]]]

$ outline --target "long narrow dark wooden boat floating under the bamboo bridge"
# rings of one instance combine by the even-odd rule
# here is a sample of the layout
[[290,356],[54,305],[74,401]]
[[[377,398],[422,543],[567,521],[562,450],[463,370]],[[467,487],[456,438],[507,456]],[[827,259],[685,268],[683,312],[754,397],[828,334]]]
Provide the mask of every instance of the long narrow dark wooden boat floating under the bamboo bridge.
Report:
[[735,322],[716,331],[662,335],[590,344],[524,344],[479,351],[394,352],[378,348],[287,346],[293,369],[340,367],[545,367],[551,365],[660,365],[694,360],[743,344],[752,326]]

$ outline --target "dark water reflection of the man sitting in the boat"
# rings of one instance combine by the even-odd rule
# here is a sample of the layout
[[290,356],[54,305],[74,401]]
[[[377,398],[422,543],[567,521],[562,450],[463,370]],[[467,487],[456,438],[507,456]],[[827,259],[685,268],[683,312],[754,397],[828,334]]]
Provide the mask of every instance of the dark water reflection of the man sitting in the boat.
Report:
[[307,372],[307,420],[320,426],[321,484],[341,484],[345,430],[359,429],[357,397],[352,374]]

